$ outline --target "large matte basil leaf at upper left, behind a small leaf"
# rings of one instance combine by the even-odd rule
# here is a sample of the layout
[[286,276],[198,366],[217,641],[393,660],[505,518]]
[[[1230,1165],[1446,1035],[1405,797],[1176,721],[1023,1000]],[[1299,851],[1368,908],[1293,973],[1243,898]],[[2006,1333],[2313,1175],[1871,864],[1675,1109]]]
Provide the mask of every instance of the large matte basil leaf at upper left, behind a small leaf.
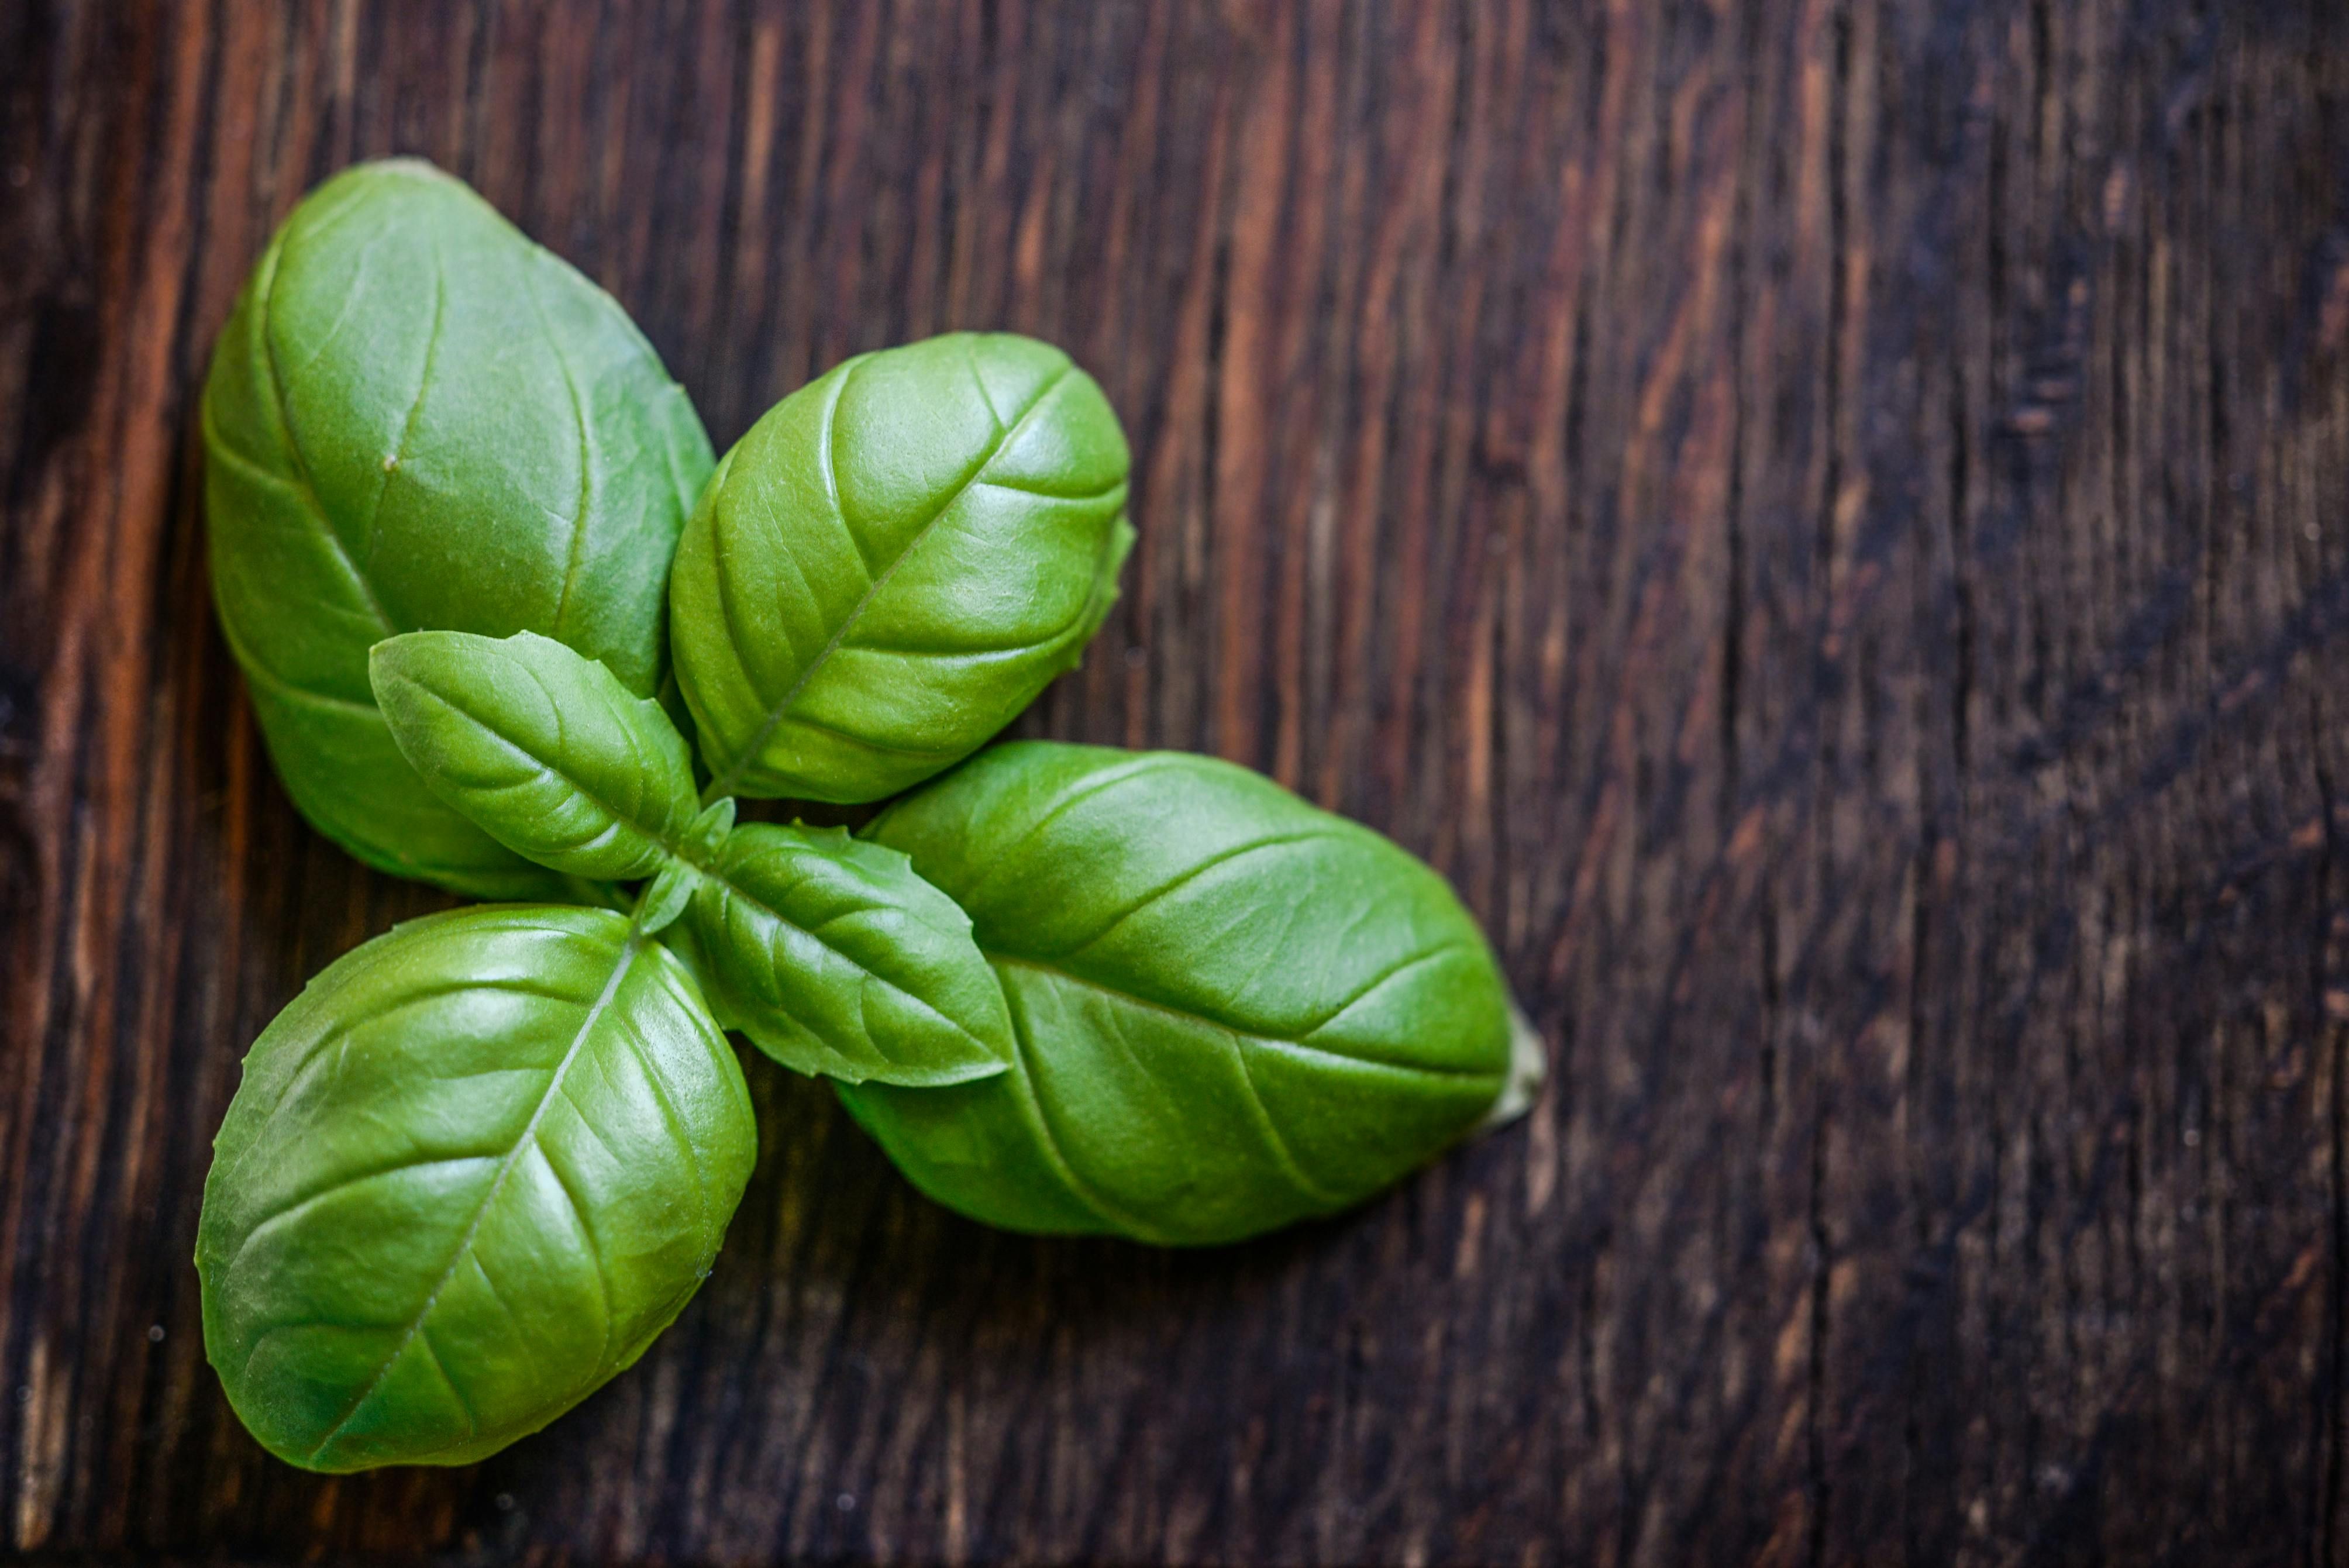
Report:
[[359,164],[261,256],[202,425],[221,629],[294,805],[383,871],[559,890],[402,761],[366,650],[543,631],[658,690],[709,437],[644,336],[463,183]]

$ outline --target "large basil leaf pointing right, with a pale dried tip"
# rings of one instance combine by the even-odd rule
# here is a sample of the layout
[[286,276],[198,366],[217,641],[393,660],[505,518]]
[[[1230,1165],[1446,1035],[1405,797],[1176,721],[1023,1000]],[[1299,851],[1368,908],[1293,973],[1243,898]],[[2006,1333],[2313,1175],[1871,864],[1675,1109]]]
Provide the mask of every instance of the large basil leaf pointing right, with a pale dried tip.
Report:
[[1445,880],[1245,768],[1015,742],[867,836],[970,911],[1010,1002],[1003,1077],[841,1087],[951,1209],[1229,1242],[1377,1192],[1501,1099],[1508,991]]

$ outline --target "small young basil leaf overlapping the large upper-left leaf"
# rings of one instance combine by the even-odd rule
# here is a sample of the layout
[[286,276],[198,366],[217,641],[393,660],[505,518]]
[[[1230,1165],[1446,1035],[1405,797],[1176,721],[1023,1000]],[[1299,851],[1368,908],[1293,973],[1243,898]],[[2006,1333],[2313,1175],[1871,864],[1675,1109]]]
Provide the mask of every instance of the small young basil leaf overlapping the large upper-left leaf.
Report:
[[425,784],[540,866],[646,878],[695,819],[693,753],[669,716],[552,638],[409,631],[376,643],[369,674]]

